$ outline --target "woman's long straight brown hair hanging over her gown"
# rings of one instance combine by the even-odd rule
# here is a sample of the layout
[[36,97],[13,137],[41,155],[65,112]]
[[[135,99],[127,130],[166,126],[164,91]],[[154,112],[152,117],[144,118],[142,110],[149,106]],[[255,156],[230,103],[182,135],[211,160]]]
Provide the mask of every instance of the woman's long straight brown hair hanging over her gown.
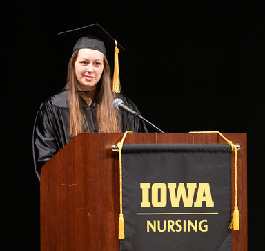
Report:
[[[78,93],[78,81],[75,74],[75,62],[79,50],[72,54],[68,64],[67,84],[65,90],[68,91],[69,113],[70,113],[70,136],[74,137],[78,133],[83,133],[87,128],[85,115],[81,109],[81,97]],[[101,80],[97,83],[97,124],[99,133],[120,132],[119,118],[112,106],[114,94],[111,91],[112,81],[110,77],[110,66],[104,55],[104,71]],[[88,128],[89,131],[89,128]]]

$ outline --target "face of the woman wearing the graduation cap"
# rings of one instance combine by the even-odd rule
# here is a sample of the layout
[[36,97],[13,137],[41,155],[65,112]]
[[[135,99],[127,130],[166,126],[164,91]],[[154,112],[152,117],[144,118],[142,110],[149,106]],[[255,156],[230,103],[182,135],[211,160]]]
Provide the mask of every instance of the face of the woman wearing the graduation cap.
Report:
[[79,91],[92,91],[96,88],[104,69],[104,54],[99,50],[79,50],[75,62],[75,75]]

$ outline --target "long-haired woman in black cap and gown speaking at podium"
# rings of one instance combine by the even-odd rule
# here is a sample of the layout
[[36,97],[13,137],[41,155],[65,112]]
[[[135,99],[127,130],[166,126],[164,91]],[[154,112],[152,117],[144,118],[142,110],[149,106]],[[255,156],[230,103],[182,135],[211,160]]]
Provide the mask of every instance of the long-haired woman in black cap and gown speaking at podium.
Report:
[[[95,30],[102,33],[98,24],[77,31],[88,32],[91,27],[94,34]],[[103,33],[106,37],[105,30]],[[37,113],[33,157],[38,178],[41,167],[78,133],[147,132],[145,124],[138,118],[113,108],[113,100],[120,98],[137,111],[128,97],[112,93],[111,86],[104,42],[98,37],[81,37],[68,64],[66,87],[43,102]]]

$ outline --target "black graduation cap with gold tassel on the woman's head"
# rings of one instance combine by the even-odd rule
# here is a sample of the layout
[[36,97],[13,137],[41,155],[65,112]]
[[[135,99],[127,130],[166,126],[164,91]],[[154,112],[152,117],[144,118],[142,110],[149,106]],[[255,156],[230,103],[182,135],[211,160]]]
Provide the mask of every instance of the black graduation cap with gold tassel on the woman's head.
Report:
[[104,28],[99,24],[90,24],[89,26],[84,26],[74,30],[67,30],[65,32],[60,32],[58,35],[66,37],[66,39],[75,40],[75,46],[73,47],[72,53],[81,49],[91,49],[99,50],[104,55],[107,54],[106,47],[110,45],[115,45],[115,57],[114,57],[114,73],[112,81],[112,91],[115,93],[121,92],[120,82],[119,82],[119,59],[118,59],[118,45],[125,51],[125,49],[117,43],[117,41],[111,37]]

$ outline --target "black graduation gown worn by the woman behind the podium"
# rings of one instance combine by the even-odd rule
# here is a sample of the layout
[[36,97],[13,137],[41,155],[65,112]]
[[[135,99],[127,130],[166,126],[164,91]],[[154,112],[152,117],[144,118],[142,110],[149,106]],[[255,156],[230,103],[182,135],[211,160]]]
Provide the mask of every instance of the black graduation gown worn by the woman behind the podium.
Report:
[[[121,93],[115,93],[117,98],[124,101],[124,104],[131,109],[138,111],[133,102]],[[97,133],[97,103],[93,100],[88,106],[82,99],[81,103],[89,132]],[[133,115],[121,112],[122,131],[147,132],[144,122]],[[68,104],[68,91],[63,91],[50,97],[43,102],[37,112],[33,129],[33,160],[35,171],[39,178],[41,167],[64,147],[72,138],[69,136],[70,116]]]

